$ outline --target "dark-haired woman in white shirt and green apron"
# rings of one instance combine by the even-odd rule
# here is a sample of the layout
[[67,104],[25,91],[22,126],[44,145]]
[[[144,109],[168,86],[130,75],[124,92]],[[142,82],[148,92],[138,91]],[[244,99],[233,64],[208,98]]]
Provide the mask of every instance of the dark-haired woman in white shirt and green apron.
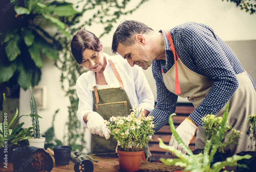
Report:
[[153,93],[142,70],[131,67],[121,56],[103,53],[103,45],[93,33],[80,29],[71,41],[71,51],[88,70],[78,78],[76,90],[77,117],[93,134],[91,153],[116,156],[117,143],[109,139],[104,120],[129,115],[132,105],[143,107],[141,113],[148,115],[154,108]]

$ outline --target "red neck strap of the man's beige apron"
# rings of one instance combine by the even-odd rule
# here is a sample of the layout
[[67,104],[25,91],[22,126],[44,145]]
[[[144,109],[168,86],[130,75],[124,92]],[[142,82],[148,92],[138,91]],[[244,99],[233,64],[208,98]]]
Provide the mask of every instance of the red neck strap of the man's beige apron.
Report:
[[[165,34],[167,36],[167,39],[170,43],[170,49],[173,52],[174,56],[174,65],[175,65],[175,94],[180,94],[180,86],[179,86],[179,76],[178,76],[178,66],[176,60],[179,58],[178,53],[176,52],[174,45],[173,45],[173,39],[170,35],[170,32],[168,30],[165,30]],[[163,73],[163,69],[162,69]]]

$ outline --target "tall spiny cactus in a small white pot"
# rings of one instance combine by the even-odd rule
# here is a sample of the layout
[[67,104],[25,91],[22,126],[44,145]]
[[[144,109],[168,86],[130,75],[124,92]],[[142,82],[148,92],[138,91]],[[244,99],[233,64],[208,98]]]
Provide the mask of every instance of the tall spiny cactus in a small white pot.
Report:
[[34,138],[28,139],[29,146],[44,148],[45,137],[42,137],[42,138],[40,137],[39,120],[38,120],[38,118],[42,118],[42,117],[40,117],[37,114],[37,103],[35,101],[31,86],[29,88],[30,88],[30,92],[31,92],[31,100],[30,100],[31,113],[28,116],[31,117],[32,126],[34,127],[33,128]]

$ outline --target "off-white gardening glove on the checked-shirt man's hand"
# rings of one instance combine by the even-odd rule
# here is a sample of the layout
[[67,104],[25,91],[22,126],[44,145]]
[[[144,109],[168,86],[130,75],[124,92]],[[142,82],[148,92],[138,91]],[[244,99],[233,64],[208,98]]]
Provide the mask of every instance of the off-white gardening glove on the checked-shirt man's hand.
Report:
[[[176,131],[179,134],[182,141],[185,143],[185,145],[189,145],[190,141],[195,135],[197,126],[190,121],[189,119],[185,119],[177,128]],[[171,140],[169,142],[170,146],[174,146],[177,150],[182,151],[183,154],[186,154],[187,152],[178,144],[174,136],[171,137]],[[171,153],[173,156],[175,156],[174,153]]]

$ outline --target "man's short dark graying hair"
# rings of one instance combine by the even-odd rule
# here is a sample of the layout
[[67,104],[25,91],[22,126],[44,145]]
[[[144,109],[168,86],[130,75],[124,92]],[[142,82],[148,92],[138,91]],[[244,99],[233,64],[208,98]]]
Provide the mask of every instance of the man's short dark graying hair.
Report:
[[149,31],[153,31],[150,27],[144,23],[136,20],[126,20],[121,23],[115,30],[112,40],[112,52],[115,54],[119,43],[125,46],[131,46],[135,43],[132,37],[135,34],[143,34]]

